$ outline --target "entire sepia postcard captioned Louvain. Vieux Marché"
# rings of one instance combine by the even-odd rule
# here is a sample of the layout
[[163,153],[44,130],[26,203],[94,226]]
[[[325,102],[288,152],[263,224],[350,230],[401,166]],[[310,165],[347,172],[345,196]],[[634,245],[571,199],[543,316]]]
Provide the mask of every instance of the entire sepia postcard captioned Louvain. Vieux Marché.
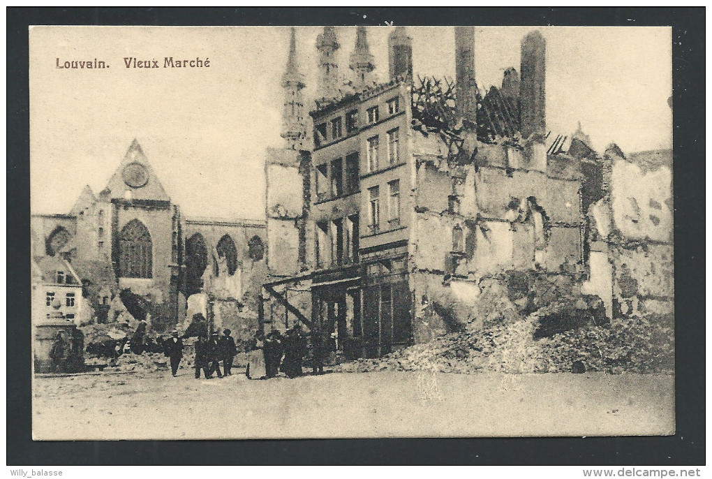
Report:
[[36,440],[674,433],[671,28],[29,47]]

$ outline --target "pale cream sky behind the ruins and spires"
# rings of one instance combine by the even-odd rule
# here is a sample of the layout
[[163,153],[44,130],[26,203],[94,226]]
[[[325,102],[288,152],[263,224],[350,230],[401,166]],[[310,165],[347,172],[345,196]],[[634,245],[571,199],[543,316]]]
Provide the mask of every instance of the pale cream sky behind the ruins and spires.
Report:
[[[602,151],[671,148],[671,31],[544,27],[548,130],[577,122]],[[530,27],[476,30],[476,78],[500,85],[519,70]],[[313,98],[320,27],[298,27],[298,56]],[[337,27],[342,73],[354,27]],[[368,27],[376,73],[387,80],[387,26]],[[451,27],[412,27],[416,75],[454,77]],[[282,144],[281,75],[287,27],[35,27],[30,34],[31,207],[66,213],[85,184],[104,188],[136,138],[172,200],[189,216],[261,219],[264,154]],[[124,57],[209,58],[209,68],[127,69]],[[105,70],[61,70],[105,60]],[[311,107],[313,102],[308,100]]]

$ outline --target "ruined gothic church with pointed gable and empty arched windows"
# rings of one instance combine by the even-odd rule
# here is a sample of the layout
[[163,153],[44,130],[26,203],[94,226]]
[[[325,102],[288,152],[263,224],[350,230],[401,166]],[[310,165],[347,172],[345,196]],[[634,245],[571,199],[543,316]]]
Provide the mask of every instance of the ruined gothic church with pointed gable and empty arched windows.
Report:
[[31,232],[37,264],[63,258],[80,278],[82,322],[146,318],[164,331],[201,312],[214,327],[257,327],[265,224],[182,216],[135,140],[105,189],[86,186],[69,214],[32,215]]

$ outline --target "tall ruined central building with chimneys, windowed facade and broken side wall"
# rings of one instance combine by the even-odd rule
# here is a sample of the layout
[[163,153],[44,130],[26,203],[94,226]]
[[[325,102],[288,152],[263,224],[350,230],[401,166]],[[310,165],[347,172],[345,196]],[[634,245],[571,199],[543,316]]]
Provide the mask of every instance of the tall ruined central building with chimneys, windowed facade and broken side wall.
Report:
[[[580,294],[582,175],[578,157],[547,146],[545,40],[525,36],[521,78],[509,68],[482,95],[473,27],[455,35],[456,83],[413,78],[397,27],[389,81],[340,98],[327,78],[335,31],[319,36],[313,145],[267,153],[267,329],[299,321],[333,350],[374,357],[480,327],[504,303],[533,311]],[[360,28],[352,65],[370,73],[371,58]]]

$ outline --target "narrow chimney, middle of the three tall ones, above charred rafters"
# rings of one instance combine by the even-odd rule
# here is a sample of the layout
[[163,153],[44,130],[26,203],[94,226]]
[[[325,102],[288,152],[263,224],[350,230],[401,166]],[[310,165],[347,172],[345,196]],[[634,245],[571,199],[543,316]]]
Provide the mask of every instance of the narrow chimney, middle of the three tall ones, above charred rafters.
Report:
[[455,27],[455,110],[467,120],[465,127],[476,130],[477,84],[475,82],[475,27]]

